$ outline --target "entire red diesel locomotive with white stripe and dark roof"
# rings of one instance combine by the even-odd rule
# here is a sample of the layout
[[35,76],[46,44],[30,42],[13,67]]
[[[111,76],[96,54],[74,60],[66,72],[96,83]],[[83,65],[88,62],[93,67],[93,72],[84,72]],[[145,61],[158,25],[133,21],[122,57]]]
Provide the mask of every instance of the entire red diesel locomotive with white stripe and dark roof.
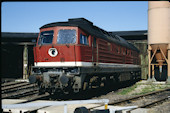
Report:
[[42,26],[34,62],[30,82],[38,82],[41,91],[51,94],[140,76],[139,51],[84,18]]

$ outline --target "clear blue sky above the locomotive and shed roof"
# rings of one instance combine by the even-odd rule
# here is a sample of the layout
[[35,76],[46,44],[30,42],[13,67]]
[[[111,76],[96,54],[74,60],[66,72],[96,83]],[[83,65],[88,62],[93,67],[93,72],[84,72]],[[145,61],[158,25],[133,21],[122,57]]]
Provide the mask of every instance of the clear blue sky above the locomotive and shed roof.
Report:
[[86,18],[106,31],[147,30],[148,1],[1,2],[1,32],[39,32],[69,18]]

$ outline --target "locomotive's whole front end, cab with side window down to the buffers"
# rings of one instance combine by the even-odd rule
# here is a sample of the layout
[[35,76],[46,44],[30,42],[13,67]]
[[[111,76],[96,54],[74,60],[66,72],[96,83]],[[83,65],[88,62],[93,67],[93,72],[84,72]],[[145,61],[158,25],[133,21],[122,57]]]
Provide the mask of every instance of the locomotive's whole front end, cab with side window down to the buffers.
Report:
[[[40,29],[34,47],[34,77],[29,77],[30,82],[38,82],[40,89],[48,90],[50,87],[50,93],[56,89],[68,91],[70,87],[74,87],[74,92],[78,92],[82,87],[80,78],[84,78],[80,77],[83,76],[80,75],[80,67],[92,66],[90,42],[91,37],[78,27]],[[53,86],[54,91],[51,90]]]

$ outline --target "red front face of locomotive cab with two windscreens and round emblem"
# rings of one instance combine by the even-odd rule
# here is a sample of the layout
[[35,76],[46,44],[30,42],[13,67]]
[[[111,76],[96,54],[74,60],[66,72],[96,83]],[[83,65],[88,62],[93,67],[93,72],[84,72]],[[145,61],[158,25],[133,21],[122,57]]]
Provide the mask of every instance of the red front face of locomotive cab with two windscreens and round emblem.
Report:
[[[40,31],[35,51],[36,66],[61,66],[63,62],[75,62],[76,29]],[[48,63],[47,63],[48,62]],[[60,63],[59,63],[60,62]]]

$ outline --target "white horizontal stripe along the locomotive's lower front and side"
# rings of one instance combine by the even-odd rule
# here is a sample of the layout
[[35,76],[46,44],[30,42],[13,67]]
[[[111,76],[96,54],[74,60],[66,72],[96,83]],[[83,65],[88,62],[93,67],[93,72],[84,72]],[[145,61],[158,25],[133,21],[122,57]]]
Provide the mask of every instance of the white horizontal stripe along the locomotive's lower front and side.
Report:
[[[73,66],[84,66],[84,67],[91,67],[94,66],[92,62],[37,62],[34,64],[35,66],[40,66],[40,67],[73,67]],[[117,64],[117,63],[98,63],[99,67],[134,67],[138,68],[140,67],[139,65],[133,65],[133,64]]]

